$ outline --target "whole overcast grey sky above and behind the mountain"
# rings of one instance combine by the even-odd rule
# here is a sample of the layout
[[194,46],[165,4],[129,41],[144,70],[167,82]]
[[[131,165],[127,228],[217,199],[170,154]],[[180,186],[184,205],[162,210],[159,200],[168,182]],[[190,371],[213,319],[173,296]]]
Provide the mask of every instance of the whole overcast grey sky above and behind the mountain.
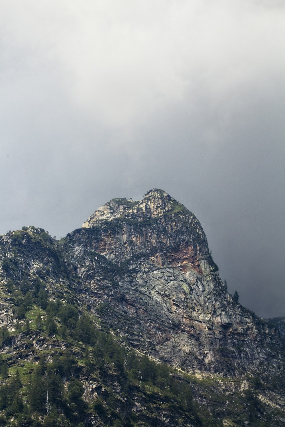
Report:
[[153,187],[229,292],[285,316],[285,3],[0,0],[0,233]]

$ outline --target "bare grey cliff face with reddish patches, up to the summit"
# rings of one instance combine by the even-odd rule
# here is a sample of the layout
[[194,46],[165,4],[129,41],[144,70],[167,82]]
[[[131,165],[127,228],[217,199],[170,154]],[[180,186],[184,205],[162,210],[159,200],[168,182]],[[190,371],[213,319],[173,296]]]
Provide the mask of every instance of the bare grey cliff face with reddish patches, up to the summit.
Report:
[[82,302],[141,351],[193,372],[276,370],[278,331],[232,300],[200,222],[164,191],[111,200],[64,251]]

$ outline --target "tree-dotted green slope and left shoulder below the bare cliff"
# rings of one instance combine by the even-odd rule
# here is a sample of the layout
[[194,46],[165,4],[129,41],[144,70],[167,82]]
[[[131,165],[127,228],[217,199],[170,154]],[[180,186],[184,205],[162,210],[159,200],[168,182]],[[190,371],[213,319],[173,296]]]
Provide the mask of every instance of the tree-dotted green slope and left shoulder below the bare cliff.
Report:
[[189,379],[88,313],[62,242],[23,228],[0,236],[0,424],[202,425],[210,414],[198,411]]

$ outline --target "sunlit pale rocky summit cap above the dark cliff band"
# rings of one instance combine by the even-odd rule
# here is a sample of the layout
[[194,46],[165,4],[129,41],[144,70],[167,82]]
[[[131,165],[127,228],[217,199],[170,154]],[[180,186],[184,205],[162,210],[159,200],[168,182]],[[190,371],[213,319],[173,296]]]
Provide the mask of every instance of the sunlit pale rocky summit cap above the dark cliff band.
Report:
[[184,206],[168,193],[159,188],[149,190],[141,200],[118,198],[112,199],[100,206],[97,211],[82,224],[83,228],[94,227],[98,222],[111,221],[115,218],[135,219],[145,221],[165,213],[182,210]]

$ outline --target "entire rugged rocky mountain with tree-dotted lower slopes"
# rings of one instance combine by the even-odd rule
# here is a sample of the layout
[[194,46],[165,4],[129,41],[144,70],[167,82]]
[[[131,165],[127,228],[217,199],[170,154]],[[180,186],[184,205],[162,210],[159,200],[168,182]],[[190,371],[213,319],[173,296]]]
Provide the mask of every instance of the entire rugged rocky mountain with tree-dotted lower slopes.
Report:
[[227,292],[165,191],[113,199],[61,240],[9,231],[0,259],[0,398],[18,375],[20,402],[3,425],[284,425],[284,322]]

